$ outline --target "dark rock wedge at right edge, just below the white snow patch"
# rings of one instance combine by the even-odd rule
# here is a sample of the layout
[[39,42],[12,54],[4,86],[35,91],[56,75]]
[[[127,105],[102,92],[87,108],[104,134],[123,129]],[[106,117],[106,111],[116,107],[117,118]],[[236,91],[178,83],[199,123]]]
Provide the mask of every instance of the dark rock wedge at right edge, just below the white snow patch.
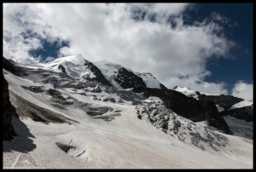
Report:
[[253,121],[253,107],[252,106],[244,106],[241,108],[230,109],[223,112],[220,112],[223,116],[230,116],[237,119],[246,120],[247,122]]

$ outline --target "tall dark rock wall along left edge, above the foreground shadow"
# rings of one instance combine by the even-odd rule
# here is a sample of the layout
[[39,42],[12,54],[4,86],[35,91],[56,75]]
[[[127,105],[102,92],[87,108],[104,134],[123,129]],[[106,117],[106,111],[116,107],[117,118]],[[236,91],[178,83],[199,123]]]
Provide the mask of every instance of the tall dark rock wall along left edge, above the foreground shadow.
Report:
[[16,136],[12,125],[12,109],[8,86],[6,79],[3,77],[3,140],[11,140],[13,136]]

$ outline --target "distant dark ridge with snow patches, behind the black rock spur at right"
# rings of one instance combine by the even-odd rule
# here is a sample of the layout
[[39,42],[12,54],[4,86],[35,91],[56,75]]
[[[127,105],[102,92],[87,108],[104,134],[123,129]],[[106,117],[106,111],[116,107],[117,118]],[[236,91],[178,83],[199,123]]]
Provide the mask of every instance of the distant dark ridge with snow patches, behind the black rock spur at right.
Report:
[[232,95],[201,93],[188,88],[175,87],[173,90],[196,100],[212,100],[218,108],[219,115],[223,116],[229,125],[231,133],[253,139],[253,101],[243,100]]

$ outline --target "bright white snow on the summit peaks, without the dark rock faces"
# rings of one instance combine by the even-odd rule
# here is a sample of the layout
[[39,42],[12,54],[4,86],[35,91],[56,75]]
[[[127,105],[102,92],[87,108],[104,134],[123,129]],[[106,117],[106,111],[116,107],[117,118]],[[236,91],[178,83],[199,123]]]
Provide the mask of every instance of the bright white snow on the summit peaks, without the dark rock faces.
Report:
[[[134,73],[138,77],[141,77],[148,88],[161,89],[160,82],[150,73],[133,72],[131,69],[125,66],[110,62],[108,60],[90,62],[102,72],[102,75],[108,80],[109,83],[112,83],[116,89],[123,89],[119,83],[114,80],[119,74],[119,69],[122,67],[124,67],[127,71]],[[86,78],[96,77],[87,66],[84,66],[84,63],[85,58],[82,55],[74,54],[39,65],[45,70],[53,72],[62,72],[62,69],[60,68],[61,66],[65,69],[67,75],[73,77],[73,79],[84,80]]]

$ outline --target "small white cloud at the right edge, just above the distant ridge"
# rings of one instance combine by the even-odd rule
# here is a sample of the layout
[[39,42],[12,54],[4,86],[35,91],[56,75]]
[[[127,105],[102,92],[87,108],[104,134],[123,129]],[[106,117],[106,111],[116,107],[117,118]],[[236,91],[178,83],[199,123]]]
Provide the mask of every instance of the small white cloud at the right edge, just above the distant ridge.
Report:
[[231,95],[244,100],[253,100],[253,83],[245,83],[241,80],[238,81],[232,89]]

